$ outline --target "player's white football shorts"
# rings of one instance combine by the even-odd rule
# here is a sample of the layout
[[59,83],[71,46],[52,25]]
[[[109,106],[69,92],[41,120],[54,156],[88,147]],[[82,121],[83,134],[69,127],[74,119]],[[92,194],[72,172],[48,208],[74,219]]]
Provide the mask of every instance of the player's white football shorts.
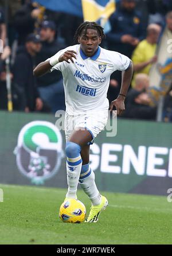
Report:
[[[97,134],[104,129],[107,120],[108,110],[84,111],[80,115],[69,115],[66,112],[64,123],[66,141],[68,141],[73,130],[78,127],[82,127],[84,130],[87,129],[91,133],[92,138],[96,138]],[[93,139],[89,144],[93,143]]]

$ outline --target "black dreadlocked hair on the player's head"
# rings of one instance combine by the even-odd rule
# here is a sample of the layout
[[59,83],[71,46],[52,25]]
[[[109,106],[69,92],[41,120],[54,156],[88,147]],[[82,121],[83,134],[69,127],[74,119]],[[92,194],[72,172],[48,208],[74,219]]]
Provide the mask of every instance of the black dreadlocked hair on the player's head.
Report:
[[75,42],[77,42],[78,37],[81,36],[81,32],[83,31],[83,29],[85,30],[85,35],[87,34],[87,29],[95,29],[99,33],[99,36],[101,37],[101,39],[103,39],[105,37],[103,28],[99,24],[97,24],[96,22],[93,22],[93,21],[92,22],[85,21],[80,24],[80,26],[77,28],[77,30],[75,32],[75,36],[73,38]]

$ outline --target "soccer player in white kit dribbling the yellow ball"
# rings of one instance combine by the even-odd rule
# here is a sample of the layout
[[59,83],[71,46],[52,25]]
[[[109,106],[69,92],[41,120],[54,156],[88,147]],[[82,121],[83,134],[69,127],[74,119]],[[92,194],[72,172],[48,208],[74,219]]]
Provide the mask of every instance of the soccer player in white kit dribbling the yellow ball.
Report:
[[96,187],[95,174],[89,166],[89,145],[107,123],[110,76],[116,70],[123,71],[119,96],[110,104],[110,110],[115,106],[117,114],[124,110],[132,77],[132,61],[128,57],[99,46],[104,37],[103,28],[96,22],[83,22],[74,37],[78,44],[62,49],[34,69],[36,76],[54,69],[62,73],[66,104],[66,199],[77,199],[80,183],[92,203],[85,222],[97,222],[100,212],[108,205]]

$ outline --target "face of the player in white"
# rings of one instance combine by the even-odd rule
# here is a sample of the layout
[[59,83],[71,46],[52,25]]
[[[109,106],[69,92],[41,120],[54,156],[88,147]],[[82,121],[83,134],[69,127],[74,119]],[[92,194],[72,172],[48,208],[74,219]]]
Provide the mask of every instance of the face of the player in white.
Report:
[[83,30],[78,41],[79,44],[81,44],[81,49],[83,50],[85,55],[91,57],[97,51],[97,48],[101,42],[101,37],[99,36],[97,30],[87,29],[86,34],[85,30]]

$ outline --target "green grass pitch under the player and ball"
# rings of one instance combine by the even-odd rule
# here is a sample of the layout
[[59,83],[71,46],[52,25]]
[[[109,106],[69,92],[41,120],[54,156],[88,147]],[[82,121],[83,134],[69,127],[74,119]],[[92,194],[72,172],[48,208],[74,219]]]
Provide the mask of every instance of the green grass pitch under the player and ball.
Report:
[[[172,202],[165,196],[102,193],[109,206],[97,223],[63,223],[66,189],[1,185],[0,244],[171,244]],[[83,191],[78,198],[89,212]]]

